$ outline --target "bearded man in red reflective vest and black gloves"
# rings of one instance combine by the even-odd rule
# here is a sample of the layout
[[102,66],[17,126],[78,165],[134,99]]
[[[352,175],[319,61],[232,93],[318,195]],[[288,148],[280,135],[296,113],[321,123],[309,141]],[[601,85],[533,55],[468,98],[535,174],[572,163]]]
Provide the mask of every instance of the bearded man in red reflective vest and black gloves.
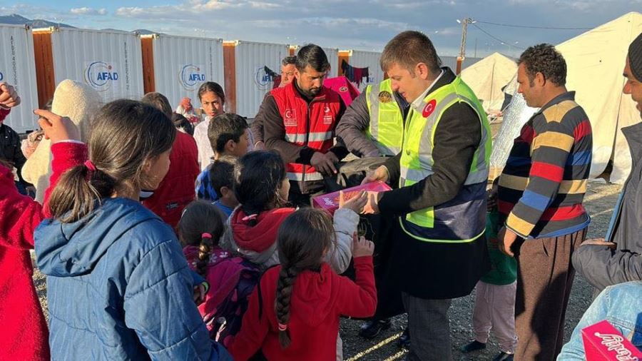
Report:
[[337,173],[336,163],[347,156],[340,139],[334,144],[345,105],[323,86],[330,63],[320,46],[302,47],[296,67],[292,83],[265,96],[255,121],[263,122],[265,146],[287,163],[290,202],[309,206],[310,196],[324,191],[323,178]]

